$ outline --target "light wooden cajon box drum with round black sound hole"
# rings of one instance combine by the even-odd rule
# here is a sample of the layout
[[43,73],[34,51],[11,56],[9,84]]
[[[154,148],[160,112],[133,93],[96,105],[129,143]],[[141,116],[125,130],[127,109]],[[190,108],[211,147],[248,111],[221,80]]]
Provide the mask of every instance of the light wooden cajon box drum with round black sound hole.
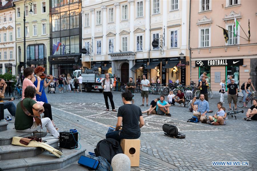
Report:
[[139,166],[140,139],[121,139],[121,148],[130,159],[131,167]]

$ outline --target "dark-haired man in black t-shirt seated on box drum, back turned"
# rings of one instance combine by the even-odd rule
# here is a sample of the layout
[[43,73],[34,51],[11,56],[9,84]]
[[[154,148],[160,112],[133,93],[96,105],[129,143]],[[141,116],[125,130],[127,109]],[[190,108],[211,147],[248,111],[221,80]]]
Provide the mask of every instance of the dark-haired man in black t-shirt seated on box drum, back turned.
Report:
[[[118,121],[114,131],[107,133],[106,138],[137,139],[140,137],[140,128],[144,126],[144,119],[140,107],[131,104],[132,93],[127,90],[121,93],[123,104],[118,110]],[[138,124],[139,122],[139,124]],[[119,130],[122,125],[122,130]]]

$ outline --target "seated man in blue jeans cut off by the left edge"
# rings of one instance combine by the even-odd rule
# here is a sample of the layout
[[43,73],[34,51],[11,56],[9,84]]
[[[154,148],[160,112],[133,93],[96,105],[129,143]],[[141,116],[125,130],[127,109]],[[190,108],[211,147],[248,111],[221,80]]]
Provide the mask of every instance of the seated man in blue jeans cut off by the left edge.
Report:
[[[4,98],[5,97],[5,89],[7,87],[7,84],[5,83],[5,80],[0,78],[0,97]],[[10,101],[3,101],[4,104],[4,109],[7,109],[9,113],[15,117],[15,112],[16,112],[16,106],[13,103],[13,98]],[[2,101],[0,101],[2,102]]]

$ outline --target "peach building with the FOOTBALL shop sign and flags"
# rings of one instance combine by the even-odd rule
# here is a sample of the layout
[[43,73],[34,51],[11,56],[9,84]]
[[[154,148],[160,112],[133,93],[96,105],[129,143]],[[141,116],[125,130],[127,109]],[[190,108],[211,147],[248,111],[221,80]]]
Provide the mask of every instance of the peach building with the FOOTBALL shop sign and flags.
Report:
[[[222,78],[227,80],[229,75],[239,89],[248,78],[257,86],[256,9],[257,1],[251,0],[191,1],[192,81],[198,83],[200,74],[206,71],[213,91],[219,91]],[[242,27],[238,26],[238,36],[233,36],[234,17]],[[228,32],[227,43],[223,29],[216,25],[232,32]]]

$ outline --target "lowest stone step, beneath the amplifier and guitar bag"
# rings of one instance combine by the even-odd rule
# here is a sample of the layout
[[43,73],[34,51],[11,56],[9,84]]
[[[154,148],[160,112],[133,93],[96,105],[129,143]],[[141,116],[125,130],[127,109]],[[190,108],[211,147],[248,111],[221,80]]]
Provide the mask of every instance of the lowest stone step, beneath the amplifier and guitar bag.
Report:
[[83,143],[81,145],[79,150],[63,148],[61,158],[46,151],[35,157],[2,160],[0,166],[5,171],[60,170],[78,161],[81,155],[85,155],[87,146]]

